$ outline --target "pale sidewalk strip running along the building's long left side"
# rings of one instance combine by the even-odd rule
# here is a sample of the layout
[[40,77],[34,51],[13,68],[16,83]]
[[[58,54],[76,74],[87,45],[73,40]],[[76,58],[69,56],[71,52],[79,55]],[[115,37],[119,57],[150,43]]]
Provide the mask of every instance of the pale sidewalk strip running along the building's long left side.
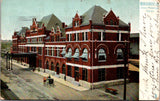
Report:
[[[13,61],[12,63],[13,63],[14,65],[17,65],[17,66],[22,67],[22,68],[29,68],[28,66],[21,65],[21,64],[19,64],[19,63],[16,63],[15,61]],[[49,75],[49,74],[47,74],[47,73],[44,73],[44,72],[38,71],[38,70],[35,70],[34,73],[37,73],[37,74],[42,75],[42,76],[44,76],[44,77],[47,77],[47,76]],[[89,89],[84,88],[84,87],[82,87],[82,86],[75,86],[75,85],[73,85],[72,83],[70,83],[70,82],[68,82],[68,81],[64,81],[63,79],[57,78],[57,77],[55,77],[55,76],[53,76],[53,75],[50,75],[50,76],[51,76],[51,78],[54,79],[54,81],[57,81],[57,82],[59,82],[59,83],[61,83],[61,84],[63,84],[63,85],[66,85],[66,86],[68,86],[68,87],[70,87],[70,88],[73,88],[73,89],[75,89],[75,90],[78,90],[78,91],[86,91],[86,90],[89,90]]]

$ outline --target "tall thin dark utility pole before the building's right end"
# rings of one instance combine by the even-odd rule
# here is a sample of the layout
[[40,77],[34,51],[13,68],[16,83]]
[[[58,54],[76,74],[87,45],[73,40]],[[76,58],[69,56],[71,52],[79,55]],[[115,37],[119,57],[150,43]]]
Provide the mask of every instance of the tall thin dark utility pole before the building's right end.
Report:
[[123,100],[126,100],[126,78],[127,78],[127,64],[128,64],[128,48],[127,48],[127,41],[125,40],[125,48],[124,48],[124,95]]

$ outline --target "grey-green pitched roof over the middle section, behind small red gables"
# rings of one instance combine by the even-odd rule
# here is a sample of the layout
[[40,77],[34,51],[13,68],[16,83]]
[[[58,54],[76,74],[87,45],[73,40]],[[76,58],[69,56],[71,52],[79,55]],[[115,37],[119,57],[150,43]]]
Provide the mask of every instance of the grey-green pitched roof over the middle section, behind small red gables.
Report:
[[40,27],[44,24],[47,30],[52,30],[52,27],[57,28],[57,26],[60,27],[62,35],[64,34],[64,28],[62,28],[62,22],[54,15],[50,14],[48,16],[44,16],[41,21],[39,22]]

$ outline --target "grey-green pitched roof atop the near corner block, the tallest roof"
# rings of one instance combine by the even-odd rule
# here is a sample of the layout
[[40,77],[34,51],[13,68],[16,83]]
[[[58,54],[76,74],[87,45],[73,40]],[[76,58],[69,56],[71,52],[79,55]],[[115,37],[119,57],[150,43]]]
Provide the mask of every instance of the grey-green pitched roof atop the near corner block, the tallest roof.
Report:
[[[104,25],[103,16],[106,15],[107,13],[109,12],[100,6],[95,5],[82,15],[81,26],[88,25],[89,20],[92,20],[93,25]],[[128,26],[128,25],[124,23],[122,20],[119,20],[119,26]],[[72,27],[72,23],[69,24],[68,28],[69,27]]]

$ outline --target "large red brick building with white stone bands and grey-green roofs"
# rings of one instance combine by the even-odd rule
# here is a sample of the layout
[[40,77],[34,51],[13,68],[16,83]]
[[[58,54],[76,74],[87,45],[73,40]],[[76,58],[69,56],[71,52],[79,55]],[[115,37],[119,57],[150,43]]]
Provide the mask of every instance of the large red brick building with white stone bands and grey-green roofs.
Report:
[[[33,18],[30,28],[23,27],[12,36],[12,53],[37,53],[37,68],[88,87],[123,78],[129,36],[130,23],[124,23],[112,10],[93,6],[83,15],[76,13],[68,26],[53,14],[40,22]],[[129,51],[129,44],[127,47]]]

